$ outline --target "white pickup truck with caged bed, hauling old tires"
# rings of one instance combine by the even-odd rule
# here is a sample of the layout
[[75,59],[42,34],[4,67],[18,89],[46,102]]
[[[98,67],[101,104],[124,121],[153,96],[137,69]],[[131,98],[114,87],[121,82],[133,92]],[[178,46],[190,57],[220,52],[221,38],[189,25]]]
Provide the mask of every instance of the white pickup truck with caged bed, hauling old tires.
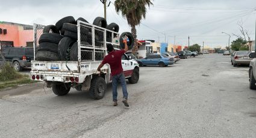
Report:
[[[119,40],[119,34],[81,21],[78,21],[77,27],[78,61],[31,61],[31,79],[45,81],[47,87],[52,88],[54,94],[58,96],[66,95],[70,91],[70,88],[75,88],[78,91],[89,90],[92,98],[101,99],[104,97],[107,88],[106,84],[111,83],[111,71],[110,66],[107,64],[101,68],[101,73],[97,71],[97,68],[98,65],[101,64],[104,56],[107,55],[107,43],[113,44],[115,49],[118,50],[120,43],[116,40]],[[80,34],[80,28],[82,27],[92,31],[91,46],[85,46],[81,41],[83,34]],[[38,41],[43,28],[43,25],[34,25],[34,49],[39,45]],[[104,38],[103,47],[95,46],[94,32],[96,31],[101,31],[101,34],[104,35],[98,36]],[[111,42],[106,41],[107,32],[112,33]],[[114,33],[117,35],[113,35]],[[116,38],[113,36],[116,36]],[[83,53],[84,51],[87,53],[91,52],[91,54],[85,55]],[[95,55],[99,52],[104,54],[104,56],[102,56],[102,59],[95,59]],[[36,57],[35,53],[34,50],[34,57]],[[83,56],[87,56],[87,59],[83,58]],[[130,56],[123,55],[122,67],[125,78],[128,79],[130,83],[137,83],[139,80],[139,64],[134,59],[131,59]]]

